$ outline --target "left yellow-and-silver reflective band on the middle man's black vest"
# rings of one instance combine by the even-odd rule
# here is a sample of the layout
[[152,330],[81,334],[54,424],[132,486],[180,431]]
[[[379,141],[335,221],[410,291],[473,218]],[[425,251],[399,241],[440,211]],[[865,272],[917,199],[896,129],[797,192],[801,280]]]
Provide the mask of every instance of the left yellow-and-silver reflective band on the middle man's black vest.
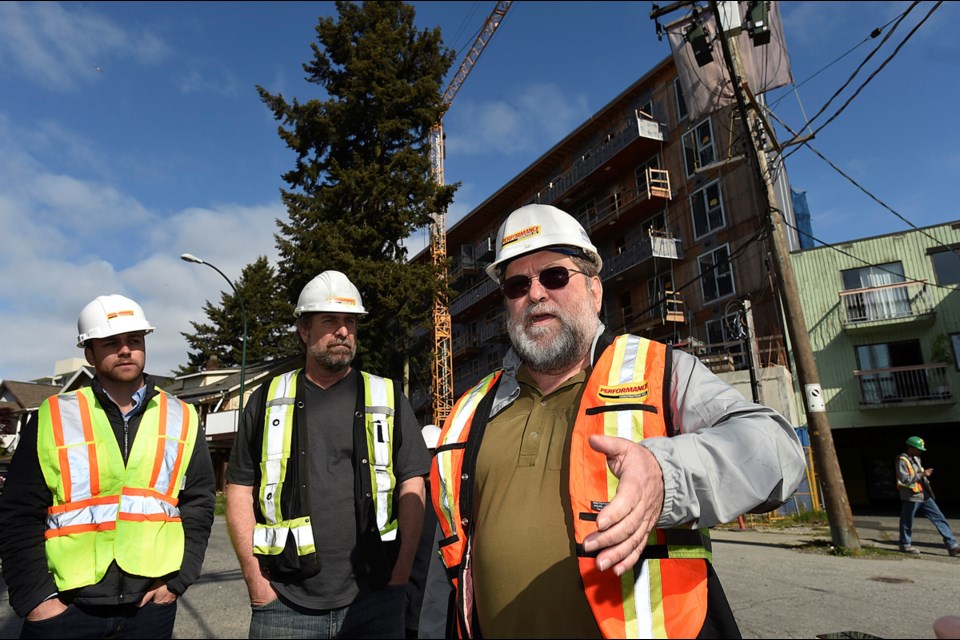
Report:
[[257,523],[253,530],[253,552],[258,555],[279,555],[290,535],[296,541],[297,555],[316,552],[309,516],[285,519],[280,507],[290,462],[297,376],[301,371],[297,369],[275,377],[267,391],[259,491],[260,512],[267,522]]

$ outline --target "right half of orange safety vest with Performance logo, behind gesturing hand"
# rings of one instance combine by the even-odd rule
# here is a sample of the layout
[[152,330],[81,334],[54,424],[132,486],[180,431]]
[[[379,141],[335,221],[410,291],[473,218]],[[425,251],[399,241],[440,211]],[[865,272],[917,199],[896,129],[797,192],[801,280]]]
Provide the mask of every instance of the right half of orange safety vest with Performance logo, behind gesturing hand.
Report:
[[619,336],[587,381],[570,449],[574,535],[587,600],[607,638],[693,638],[706,617],[706,530],[650,532],[641,560],[623,576],[597,569],[583,540],[597,530],[599,511],[616,495],[619,479],[606,456],[589,445],[599,434],[640,442],[665,437],[663,385],[666,346]]

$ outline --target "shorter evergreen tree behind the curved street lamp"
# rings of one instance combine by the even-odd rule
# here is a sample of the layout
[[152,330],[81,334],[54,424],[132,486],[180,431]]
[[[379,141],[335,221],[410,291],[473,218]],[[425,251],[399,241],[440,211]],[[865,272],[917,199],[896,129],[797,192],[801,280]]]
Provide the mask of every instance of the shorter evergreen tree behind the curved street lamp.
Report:
[[[287,301],[276,270],[264,256],[247,265],[235,283],[247,311],[247,364],[299,353],[293,332],[293,307]],[[220,305],[203,307],[209,323],[191,321],[195,333],[181,332],[191,352],[178,375],[206,368],[211,356],[223,367],[240,366],[243,354],[243,313],[237,295],[223,292]]]

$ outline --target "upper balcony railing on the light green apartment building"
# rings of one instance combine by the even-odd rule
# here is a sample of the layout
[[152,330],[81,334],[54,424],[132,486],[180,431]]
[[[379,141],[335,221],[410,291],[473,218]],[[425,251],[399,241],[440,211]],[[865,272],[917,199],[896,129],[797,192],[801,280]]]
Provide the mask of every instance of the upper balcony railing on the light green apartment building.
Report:
[[926,281],[900,282],[840,292],[844,328],[933,317]]

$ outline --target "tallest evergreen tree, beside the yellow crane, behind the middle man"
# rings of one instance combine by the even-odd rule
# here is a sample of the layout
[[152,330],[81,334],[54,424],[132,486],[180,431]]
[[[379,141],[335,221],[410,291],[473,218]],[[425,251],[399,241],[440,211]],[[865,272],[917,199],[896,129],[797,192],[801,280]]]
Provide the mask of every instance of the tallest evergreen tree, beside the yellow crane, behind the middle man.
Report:
[[439,29],[418,31],[403,2],[336,7],[339,20],[319,20],[319,44],[303,65],[323,99],[288,102],[257,87],[297,155],[283,174],[289,222],[278,221],[279,273],[291,303],[320,272],[345,273],[369,312],[360,324],[362,366],[399,377],[404,345],[418,329],[431,331],[437,286],[431,262],[407,262],[402,243],[458,186],[438,187],[430,171],[430,128],[443,114],[441,83],[454,53]]

